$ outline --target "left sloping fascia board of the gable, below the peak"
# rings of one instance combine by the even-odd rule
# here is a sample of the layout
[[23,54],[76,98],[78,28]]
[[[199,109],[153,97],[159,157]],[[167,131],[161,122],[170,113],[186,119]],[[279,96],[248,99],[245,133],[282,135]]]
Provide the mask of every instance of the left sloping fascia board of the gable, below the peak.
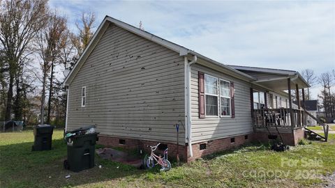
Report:
[[77,63],[75,63],[75,66],[73,69],[70,71],[68,76],[66,77],[63,86],[68,86],[72,82],[73,78],[77,73],[79,72],[80,68],[84,64],[84,61],[87,60],[91,52],[93,51],[94,47],[98,44],[100,41],[101,37],[103,36],[103,33],[105,33],[106,29],[110,26],[110,22],[106,22],[106,19],[101,22],[100,26],[98,27],[96,33],[94,33],[94,36],[91,38],[89,41],[89,45],[85,47],[84,51],[82,52],[82,55],[78,59]]

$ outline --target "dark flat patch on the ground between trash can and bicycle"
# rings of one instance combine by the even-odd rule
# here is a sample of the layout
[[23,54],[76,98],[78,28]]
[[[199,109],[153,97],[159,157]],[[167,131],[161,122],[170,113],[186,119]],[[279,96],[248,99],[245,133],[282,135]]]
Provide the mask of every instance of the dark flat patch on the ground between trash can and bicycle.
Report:
[[108,159],[113,162],[121,162],[123,164],[129,164],[131,166],[135,166],[136,168],[140,169],[143,168],[141,158],[130,155],[126,152],[114,150],[112,148],[100,148],[96,150],[96,154],[98,154],[103,159]]

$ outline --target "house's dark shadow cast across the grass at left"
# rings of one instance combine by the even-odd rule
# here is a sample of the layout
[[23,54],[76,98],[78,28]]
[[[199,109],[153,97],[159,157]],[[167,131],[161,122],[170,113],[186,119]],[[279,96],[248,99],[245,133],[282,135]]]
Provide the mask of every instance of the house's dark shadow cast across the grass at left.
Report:
[[[0,146],[0,187],[68,187],[158,172],[141,171],[96,155],[93,169],[74,173],[63,168],[67,155],[63,139],[52,140],[52,150],[32,152],[32,145],[33,142],[26,142]],[[67,175],[70,178],[65,178]]]

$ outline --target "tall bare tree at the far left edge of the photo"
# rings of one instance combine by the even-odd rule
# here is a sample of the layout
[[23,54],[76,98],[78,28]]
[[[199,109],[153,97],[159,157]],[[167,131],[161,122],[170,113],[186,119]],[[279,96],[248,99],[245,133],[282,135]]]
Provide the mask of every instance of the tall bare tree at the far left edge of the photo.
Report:
[[10,119],[13,84],[22,56],[29,50],[36,31],[44,26],[47,0],[0,1],[0,42],[8,63],[8,92],[5,119]]

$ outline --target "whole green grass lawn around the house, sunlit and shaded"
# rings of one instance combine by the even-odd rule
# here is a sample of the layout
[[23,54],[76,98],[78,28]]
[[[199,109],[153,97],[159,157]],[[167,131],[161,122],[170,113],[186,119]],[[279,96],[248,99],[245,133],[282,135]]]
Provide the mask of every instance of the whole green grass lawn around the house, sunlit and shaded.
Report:
[[66,171],[62,136],[55,130],[52,150],[31,152],[31,130],[0,133],[0,187],[320,187],[322,175],[335,172],[335,134],[329,134],[328,143],[305,141],[288,152],[269,151],[261,144],[244,146],[179,167],[172,164],[167,173],[97,156],[101,169]]

